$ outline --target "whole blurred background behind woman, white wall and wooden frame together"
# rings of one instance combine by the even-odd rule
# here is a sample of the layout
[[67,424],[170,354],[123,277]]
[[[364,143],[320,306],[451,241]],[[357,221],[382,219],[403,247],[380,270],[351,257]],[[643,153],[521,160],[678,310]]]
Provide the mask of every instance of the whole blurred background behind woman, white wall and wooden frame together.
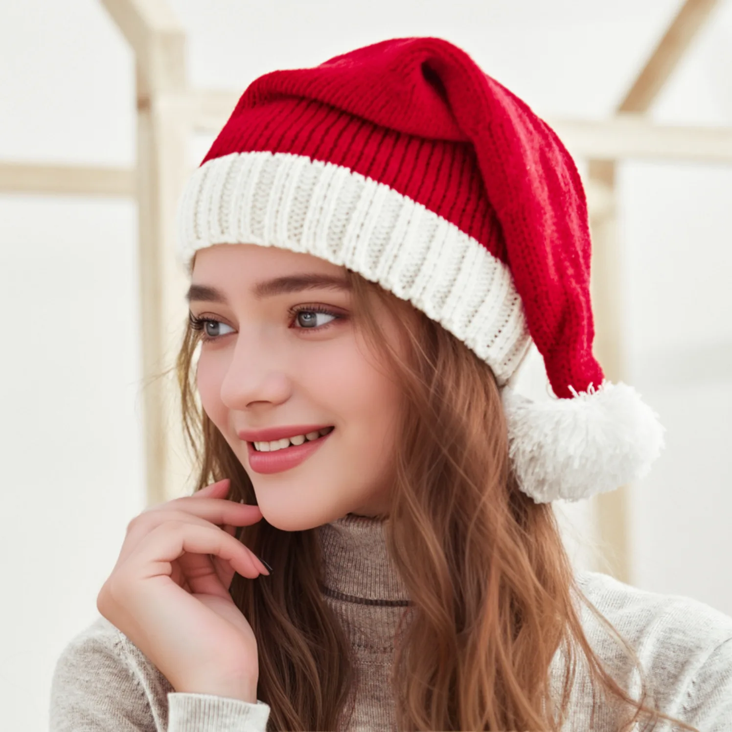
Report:
[[[1,0],[5,728],[48,727],[127,523],[190,490],[169,384],[143,388],[186,314],[184,177],[258,75],[417,35],[575,155],[596,353],[667,428],[643,482],[556,504],[572,560],[732,615],[732,0]],[[547,398],[536,354],[522,380]]]

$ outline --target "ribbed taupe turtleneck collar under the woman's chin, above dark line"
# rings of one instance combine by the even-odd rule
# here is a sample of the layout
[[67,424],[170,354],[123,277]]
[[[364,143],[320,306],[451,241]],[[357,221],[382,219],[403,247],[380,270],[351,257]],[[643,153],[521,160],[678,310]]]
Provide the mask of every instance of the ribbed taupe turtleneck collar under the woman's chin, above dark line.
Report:
[[320,526],[326,592],[367,605],[406,605],[409,596],[386,550],[388,519],[346,514]]

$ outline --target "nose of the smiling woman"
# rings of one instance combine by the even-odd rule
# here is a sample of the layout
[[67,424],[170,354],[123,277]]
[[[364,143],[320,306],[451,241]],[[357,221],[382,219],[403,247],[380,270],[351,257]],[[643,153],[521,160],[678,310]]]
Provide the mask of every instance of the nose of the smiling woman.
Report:
[[240,329],[236,346],[221,382],[221,401],[229,409],[244,411],[287,401],[292,381],[287,359],[275,339],[263,332]]

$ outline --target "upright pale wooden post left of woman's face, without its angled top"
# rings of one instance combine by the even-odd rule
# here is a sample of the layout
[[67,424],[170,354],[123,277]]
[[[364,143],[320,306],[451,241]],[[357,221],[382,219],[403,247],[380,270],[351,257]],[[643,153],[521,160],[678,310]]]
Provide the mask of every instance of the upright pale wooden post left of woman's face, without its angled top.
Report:
[[[187,278],[175,259],[176,210],[187,173],[190,105],[144,94],[138,74],[138,232],[148,504],[183,495],[190,475],[174,366]],[[161,374],[165,373],[164,376]]]

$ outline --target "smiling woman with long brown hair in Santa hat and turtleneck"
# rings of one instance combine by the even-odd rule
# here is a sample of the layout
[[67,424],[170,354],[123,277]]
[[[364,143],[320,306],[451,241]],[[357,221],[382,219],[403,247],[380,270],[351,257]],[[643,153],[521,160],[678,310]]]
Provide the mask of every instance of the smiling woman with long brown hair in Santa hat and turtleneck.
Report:
[[198,487],[130,522],[54,730],[732,729],[732,619],[561,544],[550,501],[662,427],[592,355],[583,189],[523,102],[435,38],[272,72],[180,243]]

